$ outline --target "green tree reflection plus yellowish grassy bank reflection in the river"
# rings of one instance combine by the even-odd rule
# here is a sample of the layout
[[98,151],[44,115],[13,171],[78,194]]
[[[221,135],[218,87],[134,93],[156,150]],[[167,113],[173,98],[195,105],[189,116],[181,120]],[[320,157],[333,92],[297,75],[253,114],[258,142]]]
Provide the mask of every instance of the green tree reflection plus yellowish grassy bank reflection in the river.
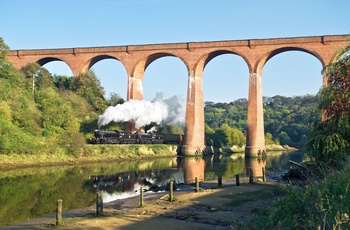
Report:
[[[147,163],[148,162],[148,163]],[[42,217],[56,209],[56,201],[63,199],[64,210],[85,208],[94,204],[96,188],[91,175],[108,175],[148,169],[160,172],[176,168],[176,157],[154,161],[123,161],[79,166],[25,168],[0,174],[0,226]],[[174,172],[159,175],[159,180]],[[122,189],[122,185],[107,190]]]

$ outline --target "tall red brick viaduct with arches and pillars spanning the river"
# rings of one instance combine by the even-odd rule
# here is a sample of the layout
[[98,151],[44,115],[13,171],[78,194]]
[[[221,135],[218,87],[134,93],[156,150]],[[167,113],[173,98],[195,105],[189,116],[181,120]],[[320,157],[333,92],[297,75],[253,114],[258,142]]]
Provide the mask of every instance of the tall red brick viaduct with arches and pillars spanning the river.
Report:
[[45,65],[51,61],[65,62],[74,75],[87,72],[96,62],[119,60],[128,75],[127,100],[143,98],[142,79],[147,66],[158,58],[178,57],[188,71],[186,139],[183,153],[194,154],[204,149],[204,101],[202,73],[211,59],[221,54],[242,57],[249,70],[247,156],[256,156],[264,149],[262,104],[262,69],[273,56],[285,51],[302,51],[316,57],[322,66],[337,58],[339,48],[349,45],[348,35],[313,36],[277,39],[188,42],[177,44],[131,45],[91,48],[12,50],[7,58],[16,68],[27,63]]

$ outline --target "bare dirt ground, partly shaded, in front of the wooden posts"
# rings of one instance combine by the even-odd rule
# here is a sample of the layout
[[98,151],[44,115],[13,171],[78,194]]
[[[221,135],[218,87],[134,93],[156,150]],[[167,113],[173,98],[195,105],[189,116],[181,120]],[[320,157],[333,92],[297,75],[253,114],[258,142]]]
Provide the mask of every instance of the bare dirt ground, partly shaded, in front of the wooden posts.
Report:
[[268,192],[278,186],[273,181],[249,184],[247,178],[240,186],[223,181],[220,188],[215,182],[205,182],[198,192],[175,191],[173,202],[169,192],[145,194],[144,207],[138,196],[104,204],[101,216],[96,216],[96,207],[65,212],[61,226],[56,226],[56,216],[51,215],[1,229],[239,229],[239,224],[248,226],[258,208],[278,198]]

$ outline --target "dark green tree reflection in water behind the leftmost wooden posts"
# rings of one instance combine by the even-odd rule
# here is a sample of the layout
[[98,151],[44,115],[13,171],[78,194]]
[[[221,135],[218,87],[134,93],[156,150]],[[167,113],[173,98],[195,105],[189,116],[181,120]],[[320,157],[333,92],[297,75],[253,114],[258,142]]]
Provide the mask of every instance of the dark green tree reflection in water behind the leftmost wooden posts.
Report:
[[32,175],[16,171],[19,176],[13,172],[11,179],[0,179],[0,226],[50,214],[58,199],[63,199],[65,210],[94,202],[95,196],[84,188],[84,178],[77,167],[51,167],[45,173]]

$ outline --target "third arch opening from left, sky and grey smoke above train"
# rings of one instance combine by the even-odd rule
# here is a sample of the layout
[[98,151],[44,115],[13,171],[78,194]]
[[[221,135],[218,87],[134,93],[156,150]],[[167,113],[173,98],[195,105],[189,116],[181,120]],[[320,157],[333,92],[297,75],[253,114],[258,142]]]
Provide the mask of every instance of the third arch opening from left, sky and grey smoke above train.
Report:
[[143,98],[166,104],[166,109],[159,112],[164,116],[157,130],[183,134],[188,82],[185,64],[172,55],[159,56],[147,63],[143,76]]

